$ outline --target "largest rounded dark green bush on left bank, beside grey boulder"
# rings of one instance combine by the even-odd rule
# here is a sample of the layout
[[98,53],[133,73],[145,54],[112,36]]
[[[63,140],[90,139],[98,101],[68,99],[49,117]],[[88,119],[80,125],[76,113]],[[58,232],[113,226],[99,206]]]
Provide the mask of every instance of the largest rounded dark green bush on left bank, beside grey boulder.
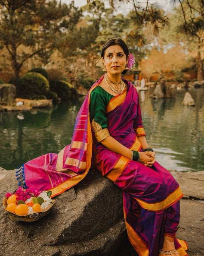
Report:
[[13,78],[10,83],[16,86],[17,97],[46,99],[48,91],[46,78],[39,73],[26,73],[22,78]]

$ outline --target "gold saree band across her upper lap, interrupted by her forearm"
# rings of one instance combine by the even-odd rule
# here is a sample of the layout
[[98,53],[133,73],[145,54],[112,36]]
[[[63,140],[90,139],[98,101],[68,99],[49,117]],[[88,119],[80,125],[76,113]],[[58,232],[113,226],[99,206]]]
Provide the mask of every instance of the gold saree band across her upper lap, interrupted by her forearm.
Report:
[[[141,143],[139,142],[139,139],[136,137],[135,142],[130,147],[130,149],[133,150],[140,150],[141,149]],[[121,174],[123,173],[124,169],[127,167],[127,164],[130,162],[130,158],[125,157],[124,155],[121,155],[121,157],[118,159],[117,163],[114,165],[114,167],[111,169],[111,171],[108,172],[106,177],[109,180],[116,181]]]

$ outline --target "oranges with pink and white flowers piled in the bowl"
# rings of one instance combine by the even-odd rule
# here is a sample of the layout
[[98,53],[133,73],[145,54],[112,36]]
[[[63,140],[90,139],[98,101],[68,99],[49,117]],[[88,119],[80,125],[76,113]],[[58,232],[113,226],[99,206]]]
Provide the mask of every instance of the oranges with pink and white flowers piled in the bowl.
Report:
[[51,195],[51,191],[40,191],[32,187],[24,189],[19,186],[15,193],[6,193],[6,210],[20,216],[46,212],[52,206]]

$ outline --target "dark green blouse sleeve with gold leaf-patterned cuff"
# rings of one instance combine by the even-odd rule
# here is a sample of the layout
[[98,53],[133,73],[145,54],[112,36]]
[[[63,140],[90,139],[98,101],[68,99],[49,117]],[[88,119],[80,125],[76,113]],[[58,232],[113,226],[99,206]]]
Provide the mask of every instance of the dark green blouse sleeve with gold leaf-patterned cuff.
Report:
[[107,125],[106,106],[107,99],[105,96],[101,92],[93,90],[90,97],[89,111],[91,128],[97,142],[110,136]]

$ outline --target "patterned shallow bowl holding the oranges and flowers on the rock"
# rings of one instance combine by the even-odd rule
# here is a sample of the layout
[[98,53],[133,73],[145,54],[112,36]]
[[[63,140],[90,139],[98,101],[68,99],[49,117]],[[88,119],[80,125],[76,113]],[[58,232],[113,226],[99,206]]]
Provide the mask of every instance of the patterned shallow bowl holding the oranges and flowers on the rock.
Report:
[[37,221],[40,218],[48,215],[48,213],[49,213],[50,209],[53,207],[54,203],[55,203],[55,200],[52,201],[52,206],[46,212],[35,212],[35,213],[28,214],[28,215],[20,216],[20,215],[17,215],[13,212],[6,210],[7,197],[6,196],[3,197],[3,207],[6,210],[6,212],[8,212],[9,217],[14,221]]

